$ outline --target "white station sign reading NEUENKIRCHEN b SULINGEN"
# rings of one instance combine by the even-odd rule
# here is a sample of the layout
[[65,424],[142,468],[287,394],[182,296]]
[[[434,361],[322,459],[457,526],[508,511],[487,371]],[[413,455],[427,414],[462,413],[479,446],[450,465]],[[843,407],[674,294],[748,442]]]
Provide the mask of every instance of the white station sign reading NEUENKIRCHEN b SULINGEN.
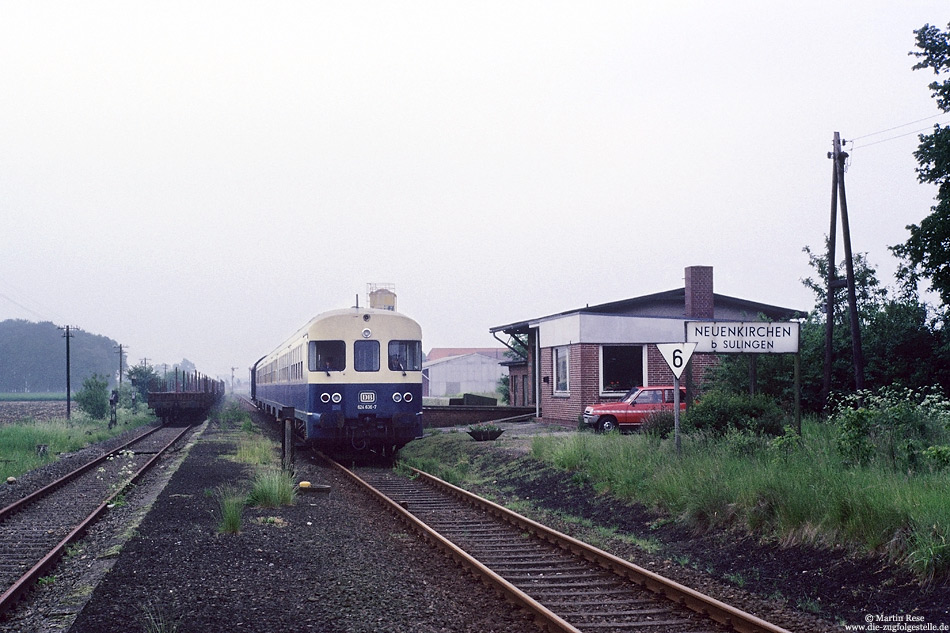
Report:
[[687,321],[686,342],[714,354],[797,354],[794,321]]

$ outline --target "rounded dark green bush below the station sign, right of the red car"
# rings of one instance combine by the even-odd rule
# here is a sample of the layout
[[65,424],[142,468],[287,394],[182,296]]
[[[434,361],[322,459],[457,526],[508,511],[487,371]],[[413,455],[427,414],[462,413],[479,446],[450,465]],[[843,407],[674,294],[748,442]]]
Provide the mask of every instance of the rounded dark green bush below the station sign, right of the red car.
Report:
[[757,435],[781,435],[785,414],[764,395],[710,391],[693,404],[684,425],[691,430],[721,437],[730,430]]

